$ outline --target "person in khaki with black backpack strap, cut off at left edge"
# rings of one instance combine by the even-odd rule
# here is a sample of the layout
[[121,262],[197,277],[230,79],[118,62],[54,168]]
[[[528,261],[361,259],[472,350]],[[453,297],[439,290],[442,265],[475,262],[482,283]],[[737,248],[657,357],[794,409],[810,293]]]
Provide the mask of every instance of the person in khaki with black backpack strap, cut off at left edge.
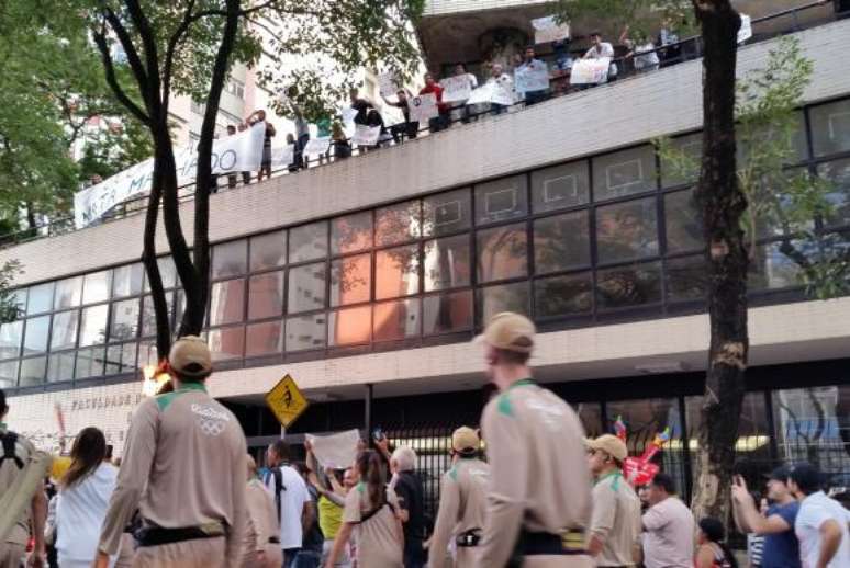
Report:
[[[27,473],[27,464],[35,454],[35,446],[25,438],[11,432],[5,427],[5,416],[9,406],[5,404],[5,393],[0,389],[0,497],[5,502],[7,491],[16,491],[20,482],[18,476],[32,475]],[[26,541],[30,537],[30,521],[33,526],[33,553],[30,555],[27,566],[41,568],[47,566],[46,546],[44,542],[44,526],[47,520],[47,496],[44,493],[44,482],[38,481],[32,497],[25,498],[27,502],[21,502],[21,507],[12,507],[13,510],[4,510],[2,514],[14,514],[14,525],[9,534],[0,538],[0,568],[20,568],[21,560],[26,554]],[[11,497],[15,497],[11,495]],[[20,511],[20,512],[19,512]],[[16,521],[14,521],[16,519]],[[11,524],[11,523],[10,523]]]

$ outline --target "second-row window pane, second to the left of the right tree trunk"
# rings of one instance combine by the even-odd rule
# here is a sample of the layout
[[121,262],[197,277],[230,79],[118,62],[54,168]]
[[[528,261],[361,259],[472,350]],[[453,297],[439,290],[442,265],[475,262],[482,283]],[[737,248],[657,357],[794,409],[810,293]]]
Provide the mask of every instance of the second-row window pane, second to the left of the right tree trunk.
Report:
[[658,218],[655,197],[596,208],[596,257],[600,264],[656,254]]

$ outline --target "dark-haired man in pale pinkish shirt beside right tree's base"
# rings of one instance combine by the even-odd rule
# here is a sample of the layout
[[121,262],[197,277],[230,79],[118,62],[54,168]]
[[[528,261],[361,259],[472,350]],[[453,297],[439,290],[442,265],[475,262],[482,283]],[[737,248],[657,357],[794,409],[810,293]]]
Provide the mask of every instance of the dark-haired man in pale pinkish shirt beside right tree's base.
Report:
[[692,568],[694,515],[674,497],[673,478],[657,474],[649,484],[644,513],[644,565],[647,568]]

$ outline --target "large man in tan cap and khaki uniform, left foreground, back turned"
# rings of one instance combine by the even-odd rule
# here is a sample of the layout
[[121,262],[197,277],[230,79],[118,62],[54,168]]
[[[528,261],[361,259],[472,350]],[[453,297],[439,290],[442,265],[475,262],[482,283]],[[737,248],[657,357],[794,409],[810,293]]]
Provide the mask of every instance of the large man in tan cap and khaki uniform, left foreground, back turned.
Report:
[[247,522],[242,427],[206,394],[212,359],[203,339],[179,339],[164,367],[174,390],[133,412],[94,567],[118,553],[136,509],[134,567],[239,566]]

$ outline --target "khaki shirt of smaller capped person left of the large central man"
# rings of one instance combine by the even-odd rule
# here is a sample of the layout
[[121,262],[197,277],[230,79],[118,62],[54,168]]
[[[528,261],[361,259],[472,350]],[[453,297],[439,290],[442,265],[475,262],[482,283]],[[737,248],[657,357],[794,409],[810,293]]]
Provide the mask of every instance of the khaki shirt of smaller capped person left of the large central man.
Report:
[[446,566],[446,549],[461,533],[483,530],[490,465],[480,459],[460,458],[443,476],[439,510],[430,539],[430,568]]

